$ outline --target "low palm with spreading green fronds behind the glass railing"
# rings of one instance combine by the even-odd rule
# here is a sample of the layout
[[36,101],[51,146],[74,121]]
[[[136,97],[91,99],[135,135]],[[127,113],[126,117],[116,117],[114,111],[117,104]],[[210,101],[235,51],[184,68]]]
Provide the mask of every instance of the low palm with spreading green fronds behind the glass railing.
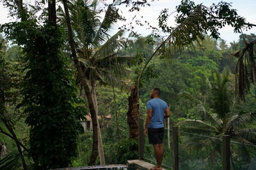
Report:
[[[200,101],[188,93],[180,94],[189,106],[195,106],[197,120],[185,120],[179,122],[181,131],[188,132],[184,137],[186,146],[193,148],[212,148],[209,158],[220,152],[218,138],[230,135],[234,141],[243,144],[256,144],[256,128],[248,127],[248,124],[256,120],[256,111],[244,113],[236,110],[234,90],[231,89],[228,73],[216,73],[212,76],[213,83],[209,83],[209,98]],[[194,134],[199,134],[196,136]],[[204,138],[211,136],[214,138]]]

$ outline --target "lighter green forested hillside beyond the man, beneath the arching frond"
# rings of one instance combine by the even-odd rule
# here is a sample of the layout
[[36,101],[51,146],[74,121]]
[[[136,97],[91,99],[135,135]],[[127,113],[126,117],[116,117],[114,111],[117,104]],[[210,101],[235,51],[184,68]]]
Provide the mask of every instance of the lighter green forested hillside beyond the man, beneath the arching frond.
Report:
[[[225,70],[231,71],[230,81],[234,88],[234,67],[237,59],[230,53],[236,52],[242,45],[243,41],[240,40],[238,43],[228,46],[224,40],[216,41],[206,36],[202,46],[196,45],[193,51],[187,50],[182,55],[173,57],[171,61],[155,60],[152,64],[155,66],[158,76],[152,78],[140,90],[142,101],[147,101],[150,89],[159,87],[162,90],[161,97],[171,106],[170,109],[175,117],[173,121],[177,122],[176,118],[188,117],[193,108],[179,97],[179,93],[189,92],[189,94],[204,98],[209,89],[208,82],[212,73]],[[253,92],[247,96],[244,104],[247,106],[243,110],[252,111],[255,104]]]

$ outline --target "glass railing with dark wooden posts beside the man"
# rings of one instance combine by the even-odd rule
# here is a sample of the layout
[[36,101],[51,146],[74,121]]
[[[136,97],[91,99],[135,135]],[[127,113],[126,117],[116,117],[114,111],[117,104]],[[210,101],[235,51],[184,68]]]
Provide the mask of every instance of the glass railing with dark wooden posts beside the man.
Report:
[[[164,139],[164,147],[165,147],[165,155],[167,156],[167,160],[163,160],[163,166],[168,167],[169,169],[256,169],[256,146],[255,145],[246,145],[244,143],[239,143],[237,141],[231,141],[229,135],[224,135],[222,138],[216,138],[212,136],[205,136],[201,134],[193,134],[190,132],[179,131],[179,127],[177,125],[173,125],[172,129],[165,129],[167,133],[171,133],[170,139],[168,139],[168,135],[165,135]],[[141,135],[142,134],[142,135]],[[216,143],[216,155],[214,156],[215,160],[212,161],[212,149],[207,146],[204,149],[198,146],[198,155],[188,155],[188,149],[184,147],[186,143],[182,143],[182,139],[184,136],[193,136],[193,138],[202,138],[208,139],[212,141],[212,143]],[[140,132],[139,134],[139,155],[141,160],[148,160],[150,162],[154,162],[154,152],[151,145],[147,144],[147,138],[143,136]],[[182,139],[181,139],[182,138]],[[169,141],[168,141],[169,140]],[[168,141],[168,142],[167,142]],[[172,143],[170,149],[168,148],[168,144]],[[217,147],[218,146],[218,147]],[[207,150],[208,149],[208,150]],[[236,150],[236,152],[235,152]],[[242,153],[242,152],[250,152]],[[195,152],[195,151],[192,151]],[[166,154],[167,153],[167,154]],[[187,154],[187,155],[186,155]],[[201,154],[201,155],[200,155]],[[233,155],[232,155],[233,154]],[[249,158],[247,160],[243,160],[244,157]],[[209,156],[210,155],[210,156]],[[248,160],[250,160],[248,162]],[[190,161],[190,162],[189,162]],[[193,162],[195,161],[195,162]],[[197,162],[198,164],[197,164]],[[247,161],[247,162],[246,162]],[[195,167],[186,167],[188,164],[194,163]],[[254,163],[255,162],[255,163]],[[253,166],[254,164],[254,166]],[[212,167],[210,168],[209,165]]]

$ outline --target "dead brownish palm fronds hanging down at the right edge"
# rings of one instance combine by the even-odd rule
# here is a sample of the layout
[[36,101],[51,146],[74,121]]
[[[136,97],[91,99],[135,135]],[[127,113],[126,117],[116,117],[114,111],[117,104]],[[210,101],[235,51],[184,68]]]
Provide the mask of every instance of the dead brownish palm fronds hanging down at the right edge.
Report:
[[[236,99],[237,101],[244,101],[245,95],[250,91],[250,83],[253,83],[256,95],[256,65],[255,65],[255,52],[253,46],[256,41],[246,43],[243,50],[235,53],[234,56],[238,57],[236,64]],[[255,96],[256,97],[256,96]]]

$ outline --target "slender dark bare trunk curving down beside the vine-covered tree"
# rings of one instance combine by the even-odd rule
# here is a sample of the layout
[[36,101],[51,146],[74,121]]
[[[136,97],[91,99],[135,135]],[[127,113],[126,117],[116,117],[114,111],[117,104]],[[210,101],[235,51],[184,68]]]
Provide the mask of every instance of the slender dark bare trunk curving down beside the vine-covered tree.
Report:
[[67,6],[67,0],[63,0],[63,6],[65,10],[65,17],[67,21],[67,27],[68,27],[68,43],[70,45],[70,50],[72,53],[72,58],[74,60],[74,64],[77,69],[77,73],[79,75],[79,78],[81,79],[81,83],[83,85],[84,93],[86,95],[86,99],[88,101],[89,110],[92,118],[92,125],[93,125],[93,145],[92,145],[92,155],[90,158],[90,162],[88,163],[89,166],[92,166],[95,164],[97,156],[98,156],[98,132],[97,132],[97,117],[96,117],[96,111],[94,108],[92,96],[90,94],[90,88],[89,85],[84,77],[83,70],[81,68],[80,62],[77,59],[76,55],[76,46],[74,41],[74,36],[72,32],[72,27],[70,23],[70,16],[68,12],[68,6]]

